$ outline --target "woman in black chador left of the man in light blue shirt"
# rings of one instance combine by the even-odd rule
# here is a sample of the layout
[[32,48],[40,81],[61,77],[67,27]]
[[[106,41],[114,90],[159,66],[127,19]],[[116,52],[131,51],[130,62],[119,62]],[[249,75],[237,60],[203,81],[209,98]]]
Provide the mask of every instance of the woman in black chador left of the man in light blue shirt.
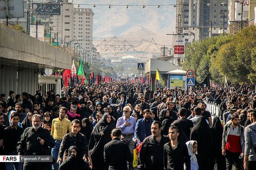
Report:
[[106,169],[103,151],[106,143],[111,141],[111,131],[115,128],[115,123],[109,113],[105,113],[100,121],[94,126],[89,141],[89,150],[94,169]]

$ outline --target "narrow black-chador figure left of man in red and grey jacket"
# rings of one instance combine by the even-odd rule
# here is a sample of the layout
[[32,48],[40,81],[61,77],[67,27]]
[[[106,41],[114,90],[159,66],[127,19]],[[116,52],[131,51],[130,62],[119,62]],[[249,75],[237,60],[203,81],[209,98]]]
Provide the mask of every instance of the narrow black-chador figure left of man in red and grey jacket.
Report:
[[226,169],[226,159],[221,154],[221,144],[222,144],[222,133],[223,128],[218,117],[213,118],[212,122],[212,138],[213,138],[213,150],[214,150],[214,159],[215,159],[215,170],[224,170]]

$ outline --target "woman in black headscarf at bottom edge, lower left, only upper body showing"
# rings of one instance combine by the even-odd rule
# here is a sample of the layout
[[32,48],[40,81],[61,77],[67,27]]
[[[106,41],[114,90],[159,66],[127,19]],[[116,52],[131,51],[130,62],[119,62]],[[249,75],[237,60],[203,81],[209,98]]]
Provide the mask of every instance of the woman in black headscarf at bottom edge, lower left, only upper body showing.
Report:
[[62,162],[59,170],[86,170],[90,169],[84,162],[82,152],[76,147],[71,146],[68,149],[68,156]]

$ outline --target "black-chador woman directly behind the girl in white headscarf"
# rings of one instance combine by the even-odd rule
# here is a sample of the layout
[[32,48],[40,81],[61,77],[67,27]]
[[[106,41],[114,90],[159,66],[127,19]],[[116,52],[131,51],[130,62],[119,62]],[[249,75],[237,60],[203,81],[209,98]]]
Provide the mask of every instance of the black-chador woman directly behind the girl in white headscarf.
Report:
[[191,130],[190,140],[195,140],[198,144],[199,169],[212,170],[214,166],[212,132],[204,116],[199,116]]

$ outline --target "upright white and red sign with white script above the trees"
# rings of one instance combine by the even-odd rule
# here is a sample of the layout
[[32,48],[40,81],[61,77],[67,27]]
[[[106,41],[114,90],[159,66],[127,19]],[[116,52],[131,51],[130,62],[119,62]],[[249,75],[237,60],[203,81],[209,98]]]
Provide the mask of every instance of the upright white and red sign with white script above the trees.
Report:
[[173,57],[183,58],[185,57],[185,44],[184,36],[182,35],[173,35]]

